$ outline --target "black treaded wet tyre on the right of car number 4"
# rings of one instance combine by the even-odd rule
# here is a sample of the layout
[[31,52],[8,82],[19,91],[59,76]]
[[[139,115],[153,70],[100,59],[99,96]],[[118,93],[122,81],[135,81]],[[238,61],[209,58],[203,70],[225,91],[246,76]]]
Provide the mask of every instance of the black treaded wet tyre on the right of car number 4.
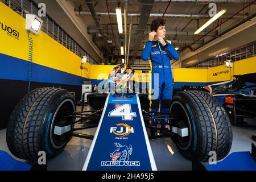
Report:
[[214,152],[217,160],[229,154],[232,126],[224,107],[209,93],[191,90],[175,94],[170,113],[183,117],[177,125],[188,127],[187,137],[174,137],[185,158],[208,162]]

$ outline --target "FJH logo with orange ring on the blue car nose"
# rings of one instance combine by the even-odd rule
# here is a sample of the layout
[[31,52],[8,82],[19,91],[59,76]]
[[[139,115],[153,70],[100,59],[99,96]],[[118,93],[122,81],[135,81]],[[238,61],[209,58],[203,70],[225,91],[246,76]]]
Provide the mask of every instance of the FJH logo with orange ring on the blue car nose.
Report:
[[127,139],[127,135],[134,133],[133,127],[130,127],[126,123],[118,123],[117,127],[110,127],[110,133],[117,135],[115,139]]

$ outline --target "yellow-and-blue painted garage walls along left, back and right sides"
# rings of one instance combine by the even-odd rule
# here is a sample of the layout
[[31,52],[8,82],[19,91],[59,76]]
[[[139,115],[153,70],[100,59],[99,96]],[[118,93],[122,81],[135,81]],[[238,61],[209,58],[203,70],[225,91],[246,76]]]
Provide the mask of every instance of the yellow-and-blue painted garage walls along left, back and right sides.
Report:
[[[25,30],[25,19],[0,2],[0,129],[6,122],[17,102],[28,93],[28,51],[29,41]],[[100,73],[107,79],[110,69],[115,65],[81,65],[81,58],[44,32],[30,34],[33,40],[32,82],[30,90],[55,86],[75,92],[76,100],[81,98],[81,84],[91,80],[97,84]],[[242,62],[243,61],[243,62]],[[234,63],[236,75],[255,72],[255,57]],[[82,69],[80,68],[82,66]],[[175,69],[174,88],[186,85],[207,85],[209,82],[229,80],[226,68]],[[221,70],[221,71],[220,71]],[[223,77],[219,72],[223,73]],[[214,73],[218,72],[218,76]],[[136,71],[133,79],[146,82],[148,74]],[[224,76],[225,75],[225,76]]]

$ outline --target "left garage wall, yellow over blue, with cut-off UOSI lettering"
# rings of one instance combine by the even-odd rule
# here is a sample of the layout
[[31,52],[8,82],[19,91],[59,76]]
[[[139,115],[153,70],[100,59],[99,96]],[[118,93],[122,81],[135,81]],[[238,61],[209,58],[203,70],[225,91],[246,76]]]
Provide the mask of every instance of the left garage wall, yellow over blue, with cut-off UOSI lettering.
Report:
[[[0,2],[0,129],[14,106],[28,93],[29,42],[25,19]],[[81,98],[81,84],[90,77],[89,64],[80,69],[81,58],[40,31],[30,34],[32,48],[32,82],[30,90],[55,86],[75,92]]]

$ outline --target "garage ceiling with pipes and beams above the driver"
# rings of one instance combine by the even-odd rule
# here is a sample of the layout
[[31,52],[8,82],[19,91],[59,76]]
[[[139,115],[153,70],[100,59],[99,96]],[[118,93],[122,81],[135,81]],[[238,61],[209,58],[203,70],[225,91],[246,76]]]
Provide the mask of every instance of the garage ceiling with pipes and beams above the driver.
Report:
[[[76,26],[82,27],[82,31],[86,32],[86,35],[89,36],[90,39],[92,39],[93,45],[102,52],[102,55],[104,55],[103,57],[105,59],[105,64],[121,63],[121,58],[124,58],[124,56],[121,56],[120,46],[125,46],[125,34],[118,33],[115,8],[118,6],[121,7],[123,13],[126,2],[128,14],[127,42],[129,40],[129,23],[132,22],[133,24],[130,42],[129,64],[134,64],[135,58],[140,58],[143,45],[147,41],[148,32],[150,32],[151,21],[157,17],[161,17],[165,10],[166,14],[164,18],[167,19],[166,38],[172,41],[174,47],[179,47],[179,51],[182,51],[183,55],[184,53],[195,51],[196,49],[204,46],[205,43],[211,42],[213,38],[218,37],[218,34],[221,34],[221,32],[228,30],[228,28],[234,26],[234,24],[240,23],[247,17],[255,16],[256,11],[255,1],[253,0],[172,0],[171,2],[168,0],[67,0],[64,2],[60,0],[56,1],[66,13],[68,12],[67,14],[69,15],[69,18],[71,18],[72,16],[72,21],[74,23],[76,22]],[[96,14],[94,18],[91,14],[91,10],[88,7],[88,2],[91,3],[91,10],[93,9]],[[106,5],[107,2],[111,22],[113,24],[114,35],[112,33],[112,27],[110,25],[108,8]],[[210,26],[208,26],[199,35],[193,35],[193,32],[195,32],[209,19],[208,5],[210,2],[216,3],[217,11],[219,11],[220,9],[226,9],[226,13],[215,22],[210,24]],[[253,4],[248,6],[252,2]],[[168,6],[169,3],[170,5]],[[64,7],[63,5],[67,6]],[[148,18],[147,22],[145,22],[146,18],[140,18],[143,5],[144,7],[152,6],[152,9],[150,11],[150,17]],[[67,9],[69,10],[67,11]],[[232,18],[230,18],[231,16]],[[54,17],[52,18],[54,19]],[[98,26],[96,26],[96,22],[98,22]],[[142,31],[142,35],[138,34],[138,26],[140,23],[146,24],[146,27],[142,28],[142,30],[145,30],[144,32]],[[124,25],[123,28],[125,28]],[[210,32],[207,36],[204,36],[210,30],[213,31]],[[196,40],[198,41],[195,42]],[[119,59],[117,59],[117,57]]]

